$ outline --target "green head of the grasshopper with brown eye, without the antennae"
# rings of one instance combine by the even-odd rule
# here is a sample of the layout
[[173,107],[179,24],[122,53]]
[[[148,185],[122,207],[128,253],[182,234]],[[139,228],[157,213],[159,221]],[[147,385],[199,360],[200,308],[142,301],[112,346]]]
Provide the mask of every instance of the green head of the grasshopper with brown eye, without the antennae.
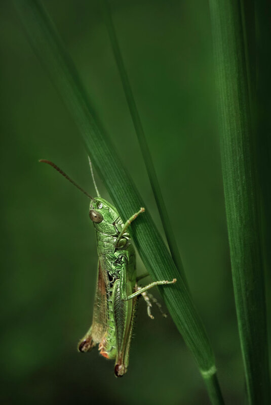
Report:
[[90,202],[89,216],[95,228],[102,230],[104,224],[114,223],[120,215],[108,201],[97,197]]

